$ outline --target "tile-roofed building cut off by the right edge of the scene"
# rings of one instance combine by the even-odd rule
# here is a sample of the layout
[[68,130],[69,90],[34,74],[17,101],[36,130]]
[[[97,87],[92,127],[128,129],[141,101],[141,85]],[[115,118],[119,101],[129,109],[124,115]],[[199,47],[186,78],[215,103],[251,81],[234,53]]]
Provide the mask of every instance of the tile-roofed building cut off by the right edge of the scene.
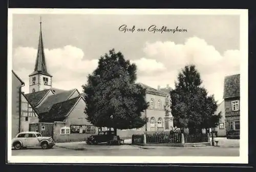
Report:
[[225,77],[223,98],[226,132],[234,131],[240,135],[240,74]]

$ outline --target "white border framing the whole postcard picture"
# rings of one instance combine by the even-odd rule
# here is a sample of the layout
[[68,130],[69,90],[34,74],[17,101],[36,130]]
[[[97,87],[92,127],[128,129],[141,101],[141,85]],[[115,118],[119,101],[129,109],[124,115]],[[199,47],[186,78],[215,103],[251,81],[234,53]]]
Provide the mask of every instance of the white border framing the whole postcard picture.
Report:
[[[9,9],[8,10],[8,88],[12,88],[12,14],[175,14],[175,15],[240,15],[240,156],[239,157],[68,157],[68,156],[11,156],[9,163],[248,163],[248,10],[247,9]],[[8,124],[11,124],[11,94],[8,89]],[[11,143],[11,125],[8,142]],[[100,161],[99,161],[100,160]]]

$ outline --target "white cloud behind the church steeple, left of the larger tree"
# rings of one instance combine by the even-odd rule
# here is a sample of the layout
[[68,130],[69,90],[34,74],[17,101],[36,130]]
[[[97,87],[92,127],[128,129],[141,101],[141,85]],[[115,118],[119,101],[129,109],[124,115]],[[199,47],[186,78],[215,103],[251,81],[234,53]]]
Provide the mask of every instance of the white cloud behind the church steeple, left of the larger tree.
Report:
[[[13,53],[13,70],[25,81],[24,91],[28,92],[29,74],[34,71],[37,50],[18,47]],[[87,75],[98,65],[98,59],[83,60],[84,53],[73,46],[45,49],[48,72],[53,75],[53,87],[70,90],[86,83]]]

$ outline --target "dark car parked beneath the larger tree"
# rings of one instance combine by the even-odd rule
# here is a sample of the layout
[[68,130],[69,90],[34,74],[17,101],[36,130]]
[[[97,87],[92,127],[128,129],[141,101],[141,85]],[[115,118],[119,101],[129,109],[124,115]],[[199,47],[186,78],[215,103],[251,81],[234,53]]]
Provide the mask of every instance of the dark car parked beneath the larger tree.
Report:
[[87,144],[97,144],[102,142],[109,142],[115,136],[115,132],[113,131],[101,131],[98,135],[92,135],[87,138]]

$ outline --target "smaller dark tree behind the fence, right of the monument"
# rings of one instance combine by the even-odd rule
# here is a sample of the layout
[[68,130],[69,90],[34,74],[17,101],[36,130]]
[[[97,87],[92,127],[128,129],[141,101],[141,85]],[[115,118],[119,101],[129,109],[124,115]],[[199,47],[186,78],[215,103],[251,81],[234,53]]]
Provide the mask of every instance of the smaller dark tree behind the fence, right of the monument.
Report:
[[185,128],[215,127],[220,114],[214,115],[217,110],[217,101],[214,95],[209,95],[201,86],[200,73],[195,65],[185,66],[178,74],[175,89],[170,92],[172,98],[172,114],[175,124]]

